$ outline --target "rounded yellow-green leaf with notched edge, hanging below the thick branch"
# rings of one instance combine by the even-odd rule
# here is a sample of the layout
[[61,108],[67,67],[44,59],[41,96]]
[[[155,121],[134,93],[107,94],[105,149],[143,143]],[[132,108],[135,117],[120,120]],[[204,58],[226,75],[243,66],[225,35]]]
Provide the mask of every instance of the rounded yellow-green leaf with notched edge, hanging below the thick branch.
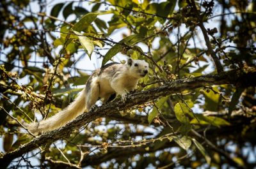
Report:
[[178,121],[182,123],[189,122],[188,117],[186,117],[186,114],[191,113],[189,107],[185,103],[177,103],[174,107],[175,116],[178,119]]

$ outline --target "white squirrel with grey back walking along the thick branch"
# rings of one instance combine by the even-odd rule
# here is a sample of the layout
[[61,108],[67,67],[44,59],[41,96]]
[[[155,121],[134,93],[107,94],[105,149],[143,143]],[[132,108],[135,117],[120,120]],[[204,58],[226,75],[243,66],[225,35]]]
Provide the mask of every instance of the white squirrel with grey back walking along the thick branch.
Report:
[[147,73],[148,63],[142,60],[129,58],[125,64],[117,62],[106,64],[93,72],[84,89],[67,108],[44,121],[30,123],[26,127],[32,133],[60,128],[83,112],[88,112],[99,98],[104,104],[115,93],[125,101],[127,93],[133,91],[138,80]]

